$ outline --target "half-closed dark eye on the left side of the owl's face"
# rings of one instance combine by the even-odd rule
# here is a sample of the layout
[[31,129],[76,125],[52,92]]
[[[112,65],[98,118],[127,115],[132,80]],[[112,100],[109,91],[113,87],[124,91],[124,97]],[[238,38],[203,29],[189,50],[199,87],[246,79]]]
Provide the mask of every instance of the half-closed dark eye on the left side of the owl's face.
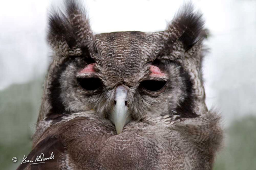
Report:
[[97,90],[102,86],[101,79],[99,78],[77,78],[79,85],[84,90]]

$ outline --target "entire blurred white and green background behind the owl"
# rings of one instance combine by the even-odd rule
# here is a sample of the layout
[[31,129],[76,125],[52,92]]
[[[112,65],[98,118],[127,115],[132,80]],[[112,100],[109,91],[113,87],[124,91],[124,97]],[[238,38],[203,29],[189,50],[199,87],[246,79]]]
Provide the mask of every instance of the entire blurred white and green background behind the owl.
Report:
[[[62,0],[0,2],[0,169],[16,169],[31,136],[50,61],[47,9]],[[210,36],[204,80],[208,108],[224,118],[215,170],[256,170],[256,0],[194,0]],[[164,30],[183,1],[86,0],[95,33]],[[12,158],[17,157],[16,163]]]

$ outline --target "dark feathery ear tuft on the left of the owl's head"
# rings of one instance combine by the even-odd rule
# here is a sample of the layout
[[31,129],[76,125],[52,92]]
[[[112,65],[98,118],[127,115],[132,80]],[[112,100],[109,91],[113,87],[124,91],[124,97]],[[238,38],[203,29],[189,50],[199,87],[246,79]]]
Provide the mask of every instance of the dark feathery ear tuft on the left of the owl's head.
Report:
[[65,7],[66,12],[51,10],[47,40],[57,53],[81,55],[91,48],[93,39],[85,8],[77,0],[66,0]]

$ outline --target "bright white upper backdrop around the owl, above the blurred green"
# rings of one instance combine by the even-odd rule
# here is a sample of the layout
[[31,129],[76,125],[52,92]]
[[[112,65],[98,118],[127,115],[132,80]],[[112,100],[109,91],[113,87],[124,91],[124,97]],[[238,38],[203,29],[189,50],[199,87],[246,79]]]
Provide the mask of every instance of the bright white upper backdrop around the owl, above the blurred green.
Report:
[[[62,0],[0,2],[0,90],[42,77],[47,70],[47,8]],[[184,1],[87,0],[95,33],[164,30]],[[256,1],[194,0],[212,36],[204,62],[209,108],[220,108],[226,122],[256,115]]]

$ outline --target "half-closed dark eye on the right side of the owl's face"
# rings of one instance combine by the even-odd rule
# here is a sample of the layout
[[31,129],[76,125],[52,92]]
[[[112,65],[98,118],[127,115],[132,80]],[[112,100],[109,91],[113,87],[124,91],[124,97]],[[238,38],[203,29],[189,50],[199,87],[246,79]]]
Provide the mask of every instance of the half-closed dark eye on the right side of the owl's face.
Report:
[[152,92],[159,91],[165,87],[166,81],[160,80],[145,80],[140,83],[144,89]]

